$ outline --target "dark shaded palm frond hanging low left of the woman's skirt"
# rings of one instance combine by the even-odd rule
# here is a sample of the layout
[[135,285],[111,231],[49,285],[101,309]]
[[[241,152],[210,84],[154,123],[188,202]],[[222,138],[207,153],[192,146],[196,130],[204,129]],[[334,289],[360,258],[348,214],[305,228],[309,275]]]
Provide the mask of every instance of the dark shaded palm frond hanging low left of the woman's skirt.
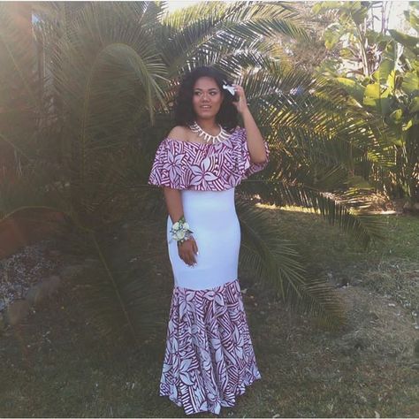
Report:
[[146,255],[144,237],[135,234],[134,242],[126,240],[121,237],[124,231],[120,224],[103,232],[74,230],[65,233],[65,243],[70,250],[82,248],[81,256],[89,256],[88,266],[73,286],[83,315],[95,328],[95,339],[105,339],[113,347],[128,341],[138,349],[164,335],[170,292],[150,281],[156,270]]

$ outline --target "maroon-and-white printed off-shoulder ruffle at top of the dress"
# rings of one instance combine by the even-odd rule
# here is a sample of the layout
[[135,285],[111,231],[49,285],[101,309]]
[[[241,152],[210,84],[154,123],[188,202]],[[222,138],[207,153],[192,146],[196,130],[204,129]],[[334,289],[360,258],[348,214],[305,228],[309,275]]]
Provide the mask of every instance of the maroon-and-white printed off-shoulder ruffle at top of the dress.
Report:
[[262,164],[250,162],[246,130],[236,128],[227,140],[205,144],[166,137],[156,150],[149,185],[197,191],[223,191],[237,187],[242,179],[262,171]]

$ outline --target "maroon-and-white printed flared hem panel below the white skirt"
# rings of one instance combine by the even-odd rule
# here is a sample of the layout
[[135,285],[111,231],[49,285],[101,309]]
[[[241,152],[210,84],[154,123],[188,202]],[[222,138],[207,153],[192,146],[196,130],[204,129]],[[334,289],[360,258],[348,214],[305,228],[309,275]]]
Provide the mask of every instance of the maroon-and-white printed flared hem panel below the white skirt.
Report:
[[218,415],[260,378],[239,280],[174,287],[159,394],[187,415]]

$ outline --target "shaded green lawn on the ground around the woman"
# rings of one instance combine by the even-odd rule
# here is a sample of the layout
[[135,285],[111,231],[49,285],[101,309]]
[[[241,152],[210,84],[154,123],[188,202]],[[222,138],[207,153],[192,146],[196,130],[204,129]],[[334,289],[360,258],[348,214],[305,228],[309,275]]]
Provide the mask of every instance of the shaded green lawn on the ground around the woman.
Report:
[[[419,218],[377,216],[388,226],[388,242],[365,253],[321,217],[266,210],[310,272],[337,286],[349,326],[319,331],[243,276],[255,284],[244,301],[262,380],[220,417],[419,416]],[[161,280],[171,284],[168,261],[162,266]],[[0,415],[185,417],[158,396],[165,334],[141,353],[109,354],[96,343],[76,293],[67,291],[1,337]]]

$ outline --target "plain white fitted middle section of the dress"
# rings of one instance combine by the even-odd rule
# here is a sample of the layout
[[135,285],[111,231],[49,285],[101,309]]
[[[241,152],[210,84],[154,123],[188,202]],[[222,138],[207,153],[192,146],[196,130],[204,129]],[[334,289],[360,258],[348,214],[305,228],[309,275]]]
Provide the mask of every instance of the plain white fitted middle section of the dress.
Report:
[[189,266],[179,257],[171,240],[171,217],[167,217],[167,245],[174,285],[193,290],[221,286],[238,278],[240,223],[234,205],[234,187],[225,191],[180,191],[183,212],[193,231],[199,255]]

